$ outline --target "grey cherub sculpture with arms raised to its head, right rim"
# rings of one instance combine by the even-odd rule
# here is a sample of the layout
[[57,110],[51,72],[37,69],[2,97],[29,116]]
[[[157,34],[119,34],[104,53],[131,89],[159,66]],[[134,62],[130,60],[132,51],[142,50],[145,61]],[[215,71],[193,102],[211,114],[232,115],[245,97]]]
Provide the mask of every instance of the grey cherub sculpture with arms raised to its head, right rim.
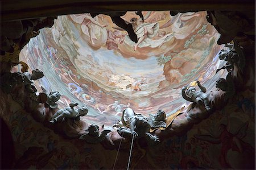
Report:
[[196,91],[196,88],[193,86],[189,86],[188,88],[184,86],[181,90],[182,97],[189,102],[204,105],[206,110],[210,110],[208,95],[206,94],[207,89],[202,86],[199,81],[196,82],[201,90]]

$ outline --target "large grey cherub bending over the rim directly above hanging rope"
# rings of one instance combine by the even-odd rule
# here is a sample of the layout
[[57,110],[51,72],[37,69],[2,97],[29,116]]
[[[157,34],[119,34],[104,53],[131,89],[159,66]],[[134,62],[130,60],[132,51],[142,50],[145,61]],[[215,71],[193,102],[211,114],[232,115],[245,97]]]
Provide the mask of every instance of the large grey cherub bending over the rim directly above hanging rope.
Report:
[[158,136],[150,134],[150,123],[148,123],[148,119],[141,114],[136,114],[133,109],[127,108],[123,110],[121,121],[123,127],[118,129],[119,135],[125,138],[129,138],[132,135],[137,138],[144,137],[151,146],[160,142]]

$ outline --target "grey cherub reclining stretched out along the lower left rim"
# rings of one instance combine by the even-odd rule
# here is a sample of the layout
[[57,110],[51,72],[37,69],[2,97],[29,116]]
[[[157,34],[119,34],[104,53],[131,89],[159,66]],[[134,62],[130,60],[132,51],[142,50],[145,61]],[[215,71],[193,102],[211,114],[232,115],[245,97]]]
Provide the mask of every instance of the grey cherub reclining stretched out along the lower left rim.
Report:
[[85,106],[75,109],[78,103],[70,103],[69,107],[58,110],[51,118],[50,123],[56,123],[63,120],[63,118],[74,119],[76,121],[80,120],[80,117],[85,116],[88,113],[88,109]]

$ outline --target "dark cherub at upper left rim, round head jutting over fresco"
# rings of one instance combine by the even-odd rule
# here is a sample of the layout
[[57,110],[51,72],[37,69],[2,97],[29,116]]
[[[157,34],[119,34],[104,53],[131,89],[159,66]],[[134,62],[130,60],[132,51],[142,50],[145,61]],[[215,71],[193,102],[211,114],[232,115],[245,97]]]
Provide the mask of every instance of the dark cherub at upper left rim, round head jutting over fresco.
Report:
[[23,85],[28,93],[35,93],[37,90],[35,86],[32,86],[33,81],[32,80],[38,80],[39,78],[42,78],[44,76],[44,73],[40,71],[39,69],[32,70],[32,73],[24,72],[24,82]]

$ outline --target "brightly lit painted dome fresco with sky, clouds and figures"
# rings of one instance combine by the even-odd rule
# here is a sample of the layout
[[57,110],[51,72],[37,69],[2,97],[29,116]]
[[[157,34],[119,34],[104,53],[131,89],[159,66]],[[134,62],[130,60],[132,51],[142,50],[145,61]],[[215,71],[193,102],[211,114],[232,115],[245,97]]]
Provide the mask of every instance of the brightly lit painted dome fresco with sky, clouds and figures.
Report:
[[36,88],[60,92],[60,108],[69,102],[87,106],[86,122],[110,126],[126,107],[170,115],[189,104],[181,97],[184,85],[199,80],[210,91],[224,77],[216,69],[224,64],[217,54],[225,47],[217,45],[219,34],[205,11],[142,14],[144,22],[134,11],[122,16],[133,25],[137,44],[108,15],[58,16],[23,48],[20,61],[42,69]]

